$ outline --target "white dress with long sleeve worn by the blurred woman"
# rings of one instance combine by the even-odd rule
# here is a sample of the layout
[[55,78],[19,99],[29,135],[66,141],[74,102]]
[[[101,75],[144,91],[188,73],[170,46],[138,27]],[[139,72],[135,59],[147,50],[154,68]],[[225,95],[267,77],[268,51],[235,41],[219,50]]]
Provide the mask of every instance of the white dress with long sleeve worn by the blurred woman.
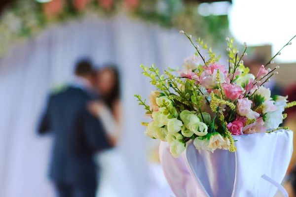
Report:
[[[99,118],[107,133],[116,135],[119,128],[108,108],[104,107],[100,111]],[[95,156],[95,161],[100,166],[97,197],[135,197],[119,148],[100,152]]]

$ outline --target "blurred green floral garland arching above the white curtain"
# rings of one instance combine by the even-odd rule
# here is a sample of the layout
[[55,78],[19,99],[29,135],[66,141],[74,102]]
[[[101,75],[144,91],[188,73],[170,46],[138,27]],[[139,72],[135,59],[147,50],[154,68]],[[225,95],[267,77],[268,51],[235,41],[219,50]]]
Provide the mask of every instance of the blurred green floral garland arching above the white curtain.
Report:
[[62,1],[63,8],[53,16],[44,13],[46,3],[35,0],[17,0],[7,6],[0,18],[0,54],[5,54],[12,44],[35,36],[47,27],[88,15],[110,17],[127,12],[131,17],[161,27],[182,29],[202,36],[212,40],[211,44],[223,40],[228,30],[227,17],[202,17],[197,13],[197,3],[183,3],[182,0],[139,0],[137,6],[130,9],[124,6],[124,0],[113,0],[110,9],[103,8],[99,0],[89,0],[81,11],[75,9],[74,0]]

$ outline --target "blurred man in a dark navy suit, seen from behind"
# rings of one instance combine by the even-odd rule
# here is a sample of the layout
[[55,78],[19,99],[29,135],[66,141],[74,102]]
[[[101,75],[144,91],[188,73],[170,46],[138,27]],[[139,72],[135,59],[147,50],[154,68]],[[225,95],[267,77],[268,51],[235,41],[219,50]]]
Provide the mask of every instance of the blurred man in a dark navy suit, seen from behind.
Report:
[[95,197],[96,165],[93,155],[111,147],[100,121],[86,108],[94,95],[89,62],[76,65],[74,83],[51,94],[38,128],[54,134],[50,178],[59,197]]

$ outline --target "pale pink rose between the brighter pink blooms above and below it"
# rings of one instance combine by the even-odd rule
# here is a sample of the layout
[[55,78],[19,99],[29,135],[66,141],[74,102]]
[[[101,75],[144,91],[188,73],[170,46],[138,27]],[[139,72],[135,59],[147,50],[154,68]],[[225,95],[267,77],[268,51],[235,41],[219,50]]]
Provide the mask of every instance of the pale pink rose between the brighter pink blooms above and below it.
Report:
[[252,101],[248,98],[238,99],[236,112],[240,116],[245,116],[250,119],[259,118],[259,113],[252,111],[251,109]]

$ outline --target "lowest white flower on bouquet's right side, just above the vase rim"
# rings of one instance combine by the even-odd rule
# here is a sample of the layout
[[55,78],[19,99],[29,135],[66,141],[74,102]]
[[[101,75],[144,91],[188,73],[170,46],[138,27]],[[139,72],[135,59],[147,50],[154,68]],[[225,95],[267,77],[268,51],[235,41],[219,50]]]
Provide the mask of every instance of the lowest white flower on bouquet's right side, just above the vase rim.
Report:
[[280,110],[268,112],[263,116],[263,127],[267,130],[275,130],[283,122],[283,118],[282,111]]

